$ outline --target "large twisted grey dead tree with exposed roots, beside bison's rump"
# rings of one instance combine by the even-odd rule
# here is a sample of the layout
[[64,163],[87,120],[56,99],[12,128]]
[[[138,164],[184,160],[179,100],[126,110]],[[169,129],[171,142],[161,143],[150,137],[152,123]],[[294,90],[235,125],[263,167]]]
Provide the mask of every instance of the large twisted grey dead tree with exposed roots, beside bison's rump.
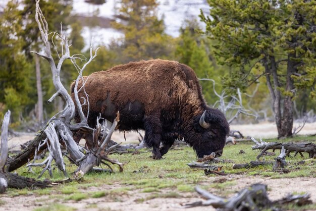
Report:
[[[51,54],[51,45],[48,40],[48,24],[45,20],[45,17],[42,14],[42,11],[39,7],[39,0],[36,0],[36,6],[35,6],[35,20],[39,28],[40,36],[43,41],[43,54],[40,54],[38,52],[34,52],[36,55],[46,59],[51,68],[52,73],[52,79],[54,86],[56,88],[56,93],[52,95],[52,97],[48,100],[48,103],[50,103],[52,100],[54,100],[57,96],[61,96],[63,98],[63,101],[65,102],[65,107],[63,111],[60,111],[58,114],[56,114],[54,117],[52,117],[46,126],[39,132],[39,135],[31,141],[27,147],[22,150],[22,152],[18,155],[16,155],[8,164],[10,165],[10,171],[13,171],[22,165],[26,164],[28,161],[32,160],[33,157],[36,158],[36,155],[41,152],[43,149],[48,149],[49,154],[48,157],[45,159],[44,162],[37,164],[37,163],[31,163],[28,164],[29,167],[32,166],[45,166],[41,174],[47,170],[49,174],[51,175],[51,162],[55,160],[55,163],[57,164],[57,167],[60,171],[64,172],[65,175],[66,169],[65,164],[63,160],[63,154],[61,152],[61,144],[66,148],[67,152],[69,153],[69,158],[71,161],[73,161],[75,164],[77,164],[79,167],[76,171],[76,174],[74,174],[77,177],[78,174],[80,176],[83,176],[86,172],[91,170],[94,166],[98,166],[100,162],[104,163],[101,160],[111,162],[113,164],[117,164],[120,166],[120,171],[122,171],[122,164],[118,161],[111,160],[108,158],[108,151],[104,152],[104,149],[107,147],[109,140],[111,138],[111,134],[107,133],[107,128],[103,128],[103,131],[101,132],[101,128],[97,128],[97,132],[95,132],[95,129],[90,128],[87,125],[87,117],[83,114],[81,104],[78,98],[78,91],[80,91],[81,88],[84,88],[82,86],[80,89],[78,89],[78,81],[83,80],[82,73],[85,67],[96,57],[96,52],[99,48],[97,48],[94,51],[93,55],[93,46],[91,44],[90,46],[90,58],[89,60],[83,65],[82,68],[79,68],[79,66],[76,64],[76,59],[83,60],[80,58],[80,55],[74,55],[70,56],[70,49],[68,44],[68,38],[66,35],[58,33],[53,33],[51,42],[54,45],[54,48],[56,52],[58,53],[57,46],[54,44],[54,36],[59,36],[61,40],[62,45],[62,53],[61,55],[57,55],[59,57],[58,64],[55,63],[54,58]],[[63,86],[61,79],[60,79],[60,72],[62,68],[62,64],[65,60],[71,60],[71,62],[74,64],[75,68],[78,70],[78,77],[75,82],[75,89],[74,89],[74,98],[77,102],[77,111],[78,115],[80,116],[81,123],[73,124],[71,125],[70,122],[72,119],[74,119],[75,115],[75,103],[73,102],[71,96],[68,94],[67,89]],[[84,58],[85,59],[85,58]],[[84,81],[83,81],[84,84]],[[85,96],[84,103],[89,104],[88,95]],[[119,118],[119,117],[118,117]],[[117,120],[118,121],[118,120]],[[111,130],[114,131],[114,128],[111,128]],[[93,150],[88,151],[87,154],[83,153],[83,149],[81,146],[79,146],[73,139],[73,133],[72,131],[78,131],[78,130],[84,130],[89,132],[90,134],[94,134],[94,141],[95,141],[95,147]],[[101,137],[101,138],[99,138]],[[114,148],[115,146],[111,146],[110,148]],[[109,166],[108,164],[106,164]],[[78,173],[78,174],[77,174]]]

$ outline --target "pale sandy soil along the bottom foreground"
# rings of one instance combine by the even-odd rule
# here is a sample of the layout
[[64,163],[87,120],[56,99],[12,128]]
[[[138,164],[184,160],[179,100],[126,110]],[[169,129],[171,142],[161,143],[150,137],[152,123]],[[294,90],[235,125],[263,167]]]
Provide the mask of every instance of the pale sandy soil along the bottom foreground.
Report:
[[[268,195],[271,199],[280,199],[287,195],[287,193],[293,192],[306,192],[311,195],[311,200],[316,201],[316,194],[314,194],[316,187],[316,180],[314,178],[291,178],[291,179],[270,179],[270,178],[257,178],[243,175],[230,175],[221,178],[227,180],[236,181],[235,185],[229,187],[232,196],[235,192],[248,187],[253,183],[264,183],[269,184]],[[209,183],[215,182],[218,177],[209,178]],[[82,192],[100,191],[100,190],[111,190],[119,188],[118,184],[115,185],[103,185],[101,187],[91,187],[89,189],[81,190]],[[303,188],[302,188],[303,187]],[[217,195],[221,195],[222,190],[209,189],[208,191],[213,192]],[[6,203],[1,206],[1,210],[33,210],[34,208],[45,206],[45,204],[61,203],[70,207],[77,208],[77,210],[131,210],[131,211],[173,211],[180,210],[181,206],[186,203],[204,200],[198,196],[197,193],[183,193],[183,198],[153,198],[145,200],[143,202],[137,202],[139,199],[146,198],[152,193],[141,193],[137,191],[128,191],[128,194],[118,196],[120,201],[113,200],[111,196],[104,196],[100,198],[88,198],[81,201],[64,201],[63,199],[51,198],[49,195],[35,196],[35,195],[20,195],[16,197],[7,197],[3,195],[0,197],[1,200]],[[21,203],[23,202],[23,203]],[[97,207],[89,208],[91,204],[96,204]],[[207,207],[193,207],[187,208],[188,211],[212,211],[215,210],[211,206]]]

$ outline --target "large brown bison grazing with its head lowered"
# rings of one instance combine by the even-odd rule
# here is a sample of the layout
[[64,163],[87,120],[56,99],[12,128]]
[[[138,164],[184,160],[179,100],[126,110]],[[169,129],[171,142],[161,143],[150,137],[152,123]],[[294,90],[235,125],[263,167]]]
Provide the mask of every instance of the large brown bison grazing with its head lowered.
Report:
[[[99,115],[113,122],[120,112],[120,131],[145,130],[144,142],[161,159],[176,139],[184,138],[198,157],[222,154],[229,124],[222,112],[209,108],[194,71],[178,62],[149,60],[130,62],[84,77],[89,95],[88,125]],[[74,99],[74,83],[71,93]],[[82,86],[79,81],[78,89]],[[83,89],[78,93],[85,96]],[[83,105],[83,112],[88,111]],[[75,120],[80,122],[76,112]],[[81,135],[75,134],[79,141]],[[86,137],[87,145],[91,137]],[[160,148],[160,143],[163,146]]]

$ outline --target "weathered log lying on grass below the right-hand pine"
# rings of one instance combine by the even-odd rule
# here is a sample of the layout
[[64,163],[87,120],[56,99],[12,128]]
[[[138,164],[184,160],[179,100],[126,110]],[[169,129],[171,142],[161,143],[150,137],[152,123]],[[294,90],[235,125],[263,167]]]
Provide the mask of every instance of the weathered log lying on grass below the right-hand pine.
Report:
[[257,156],[257,159],[259,159],[267,150],[269,149],[282,149],[282,146],[285,149],[286,156],[289,156],[291,152],[295,152],[294,156],[296,156],[298,153],[303,156],[302,152],[306,152],[309,154],[309,158],[312,158],[314,154],[316,154],[316,145],[314,143],[310,142],[300,142],[300,143],[294,143],[294,142],[288,142],[288,143],[282,143],[282,142],[265,142],[260,139],[260,143],[254,139],[251,138],[251,140],[255,143],[251,148],[252,149],[260,149],[260,153]]

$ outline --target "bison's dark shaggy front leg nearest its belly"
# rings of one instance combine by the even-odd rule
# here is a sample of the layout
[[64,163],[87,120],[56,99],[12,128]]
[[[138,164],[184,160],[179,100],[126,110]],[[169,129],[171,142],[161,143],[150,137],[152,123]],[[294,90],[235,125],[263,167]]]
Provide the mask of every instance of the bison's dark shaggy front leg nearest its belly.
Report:
[[162,154],[159,150],[162,133],[160,119],[155,116],[147,117],[144,128],[144,142],[147,147],[152,147],[152,158],[155,160],[162,159]]

